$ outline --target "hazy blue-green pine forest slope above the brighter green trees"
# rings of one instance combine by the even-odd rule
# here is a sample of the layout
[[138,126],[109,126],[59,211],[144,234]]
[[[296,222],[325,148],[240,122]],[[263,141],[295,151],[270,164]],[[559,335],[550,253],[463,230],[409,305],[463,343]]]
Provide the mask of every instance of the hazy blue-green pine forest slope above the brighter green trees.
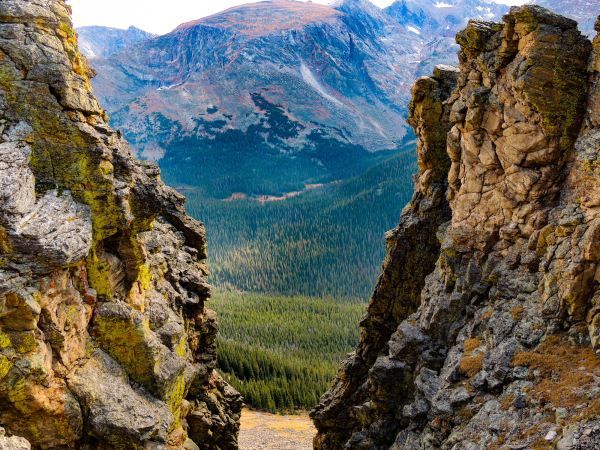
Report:
[[[365,300],[412,193],[412,151],[285,201],[223,201],[189,189],[207,227],[211,283],[249,292]],[[176,180],[167,181],[174,185]]]

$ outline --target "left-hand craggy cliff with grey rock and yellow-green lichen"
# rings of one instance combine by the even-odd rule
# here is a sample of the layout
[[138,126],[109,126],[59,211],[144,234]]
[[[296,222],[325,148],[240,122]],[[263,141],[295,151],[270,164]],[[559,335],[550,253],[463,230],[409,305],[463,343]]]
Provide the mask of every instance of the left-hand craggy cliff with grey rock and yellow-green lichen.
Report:
[[0,426],[40,449],[235,448],[204,227],[89,76],[63,0],[0,2]]

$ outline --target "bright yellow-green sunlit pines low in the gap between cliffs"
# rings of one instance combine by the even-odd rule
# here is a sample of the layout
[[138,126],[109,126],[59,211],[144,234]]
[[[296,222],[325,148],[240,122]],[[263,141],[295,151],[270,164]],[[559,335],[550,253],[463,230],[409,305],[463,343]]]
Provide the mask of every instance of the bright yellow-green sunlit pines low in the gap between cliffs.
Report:
[[219,369],[247,404],[271,412],[314,407],[358,342],[362,303],[216,292]]

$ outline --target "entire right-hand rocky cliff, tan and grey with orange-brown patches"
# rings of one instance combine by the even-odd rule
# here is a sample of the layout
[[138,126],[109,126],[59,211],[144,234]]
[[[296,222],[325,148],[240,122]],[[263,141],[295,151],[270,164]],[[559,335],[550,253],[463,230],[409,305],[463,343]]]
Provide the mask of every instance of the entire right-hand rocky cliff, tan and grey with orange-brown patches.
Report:
[[513,8],[417,81],[415,195],[317,448],[600,446],[598,39]]

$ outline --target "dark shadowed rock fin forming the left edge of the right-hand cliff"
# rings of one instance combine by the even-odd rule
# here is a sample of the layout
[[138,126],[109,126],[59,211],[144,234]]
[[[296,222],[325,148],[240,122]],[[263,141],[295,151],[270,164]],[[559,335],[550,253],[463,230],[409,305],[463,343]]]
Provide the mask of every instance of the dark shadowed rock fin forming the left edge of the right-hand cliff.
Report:
[[[450,208],[445,199],[446,173],[450,166],[445,135],[450,127],[450,110],[444,101],[449,97],[457,75],[458,71],[441,67],[436,69],[434,77],[419,79],[413,89],[410,121],[416,129],[427,131],[417,145],[419,175],[415,194],[402,214],[400,226],[387,236],[383,274],[369,304],[368,315],[361,323],[361,343],[344,363],[335,386],[323,397],[323,404],[313,412],[313,419],[321,431],[315,441],[316,447],[343,447],[342,443],[352,430],[361,420],[367,419],[363,413],[368,413],[369,406],[364,404],[369,397],[365,384],[369,370],[382,349],[387,348],[398,323],[418,307],[425,276],[435,265],[440,249],[436,230],[450,219]],[[393,371],[393,363],[390,364]],[[397,369],[392,377],[402,375],[401,368]],[[400,387],[400,383],[389,381],[390,389]],[[384,395],[382,401],[387,398],[394,402],[386,390],[381,394]],[[348,408],[349,405],[356,408]]]

